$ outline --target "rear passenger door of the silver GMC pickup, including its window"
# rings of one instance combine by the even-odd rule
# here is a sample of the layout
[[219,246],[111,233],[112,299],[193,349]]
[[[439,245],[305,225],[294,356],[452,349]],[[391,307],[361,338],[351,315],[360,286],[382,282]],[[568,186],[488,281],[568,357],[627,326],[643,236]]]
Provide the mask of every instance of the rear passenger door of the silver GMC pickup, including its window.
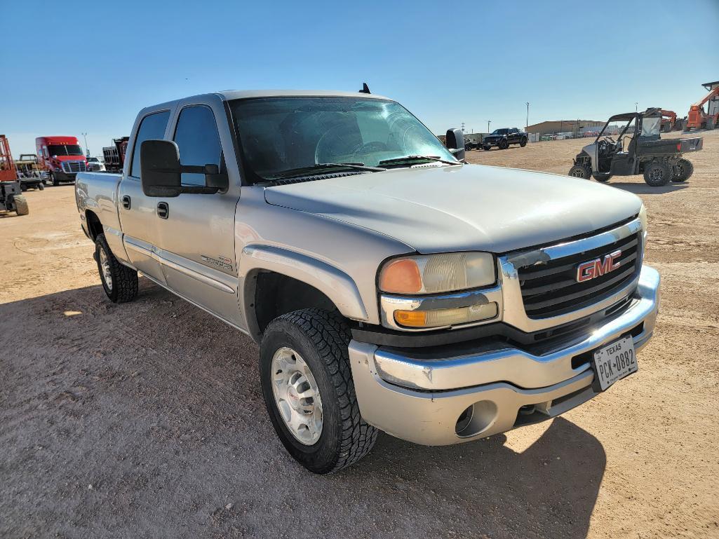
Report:
[[165,284],[165,275],[157,257],[157,198],[142,193],[139,147],[142,141],[162,139],[168,128],[170,111],[152,111],[139,121],[134,137],[132,160],[119,188],[119,216],[123,242],[130,262],[140,272]]

